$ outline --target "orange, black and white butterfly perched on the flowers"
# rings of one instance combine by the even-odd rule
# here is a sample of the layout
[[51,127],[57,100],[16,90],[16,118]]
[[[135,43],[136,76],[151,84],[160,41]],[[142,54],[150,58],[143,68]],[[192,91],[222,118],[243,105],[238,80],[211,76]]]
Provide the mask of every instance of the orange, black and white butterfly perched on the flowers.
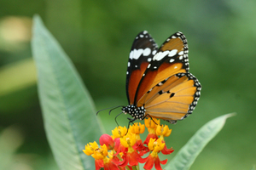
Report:
[[189,73],[189,47],[178,31],[160,48],[148,31],[135,38],[126,72],[129,105],[122,112],[130,122],[155,117],[170,123],[189,116],[201,95],[201,84]]

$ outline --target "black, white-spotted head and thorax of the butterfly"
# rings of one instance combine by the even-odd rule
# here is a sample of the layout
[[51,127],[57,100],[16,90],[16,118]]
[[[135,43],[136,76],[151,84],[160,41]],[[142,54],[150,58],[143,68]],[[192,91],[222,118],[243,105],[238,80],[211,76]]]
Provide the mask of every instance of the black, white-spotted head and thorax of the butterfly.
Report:
[[137,107],[135,105],[127,105],[122,109],[123,113],[131,115],[134,119],[143,120],[145,118],[145,108],[143,106]]

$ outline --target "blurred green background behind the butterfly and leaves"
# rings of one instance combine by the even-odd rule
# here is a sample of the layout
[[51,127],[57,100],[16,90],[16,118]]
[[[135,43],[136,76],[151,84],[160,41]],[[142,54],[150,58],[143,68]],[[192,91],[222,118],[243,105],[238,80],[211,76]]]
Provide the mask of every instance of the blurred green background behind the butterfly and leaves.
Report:
[[[193,115],[171,125],[175,150],[212,118],[236,112],[192,170],[251,169],[256,164],[256,1],[0,2],[0,167],[57,169],[44,133],[30,47],[39,14],[73,60],[100,110],[127,105],[125,72],[131,44],[147,30],[160,45],[176,31],[189,42],[190,72],[202,85]],[[120,111],[100,113],[107,133]],[[119,116],[127,125],[127,116]],[[86,131],[88,129],[84,129]]]

